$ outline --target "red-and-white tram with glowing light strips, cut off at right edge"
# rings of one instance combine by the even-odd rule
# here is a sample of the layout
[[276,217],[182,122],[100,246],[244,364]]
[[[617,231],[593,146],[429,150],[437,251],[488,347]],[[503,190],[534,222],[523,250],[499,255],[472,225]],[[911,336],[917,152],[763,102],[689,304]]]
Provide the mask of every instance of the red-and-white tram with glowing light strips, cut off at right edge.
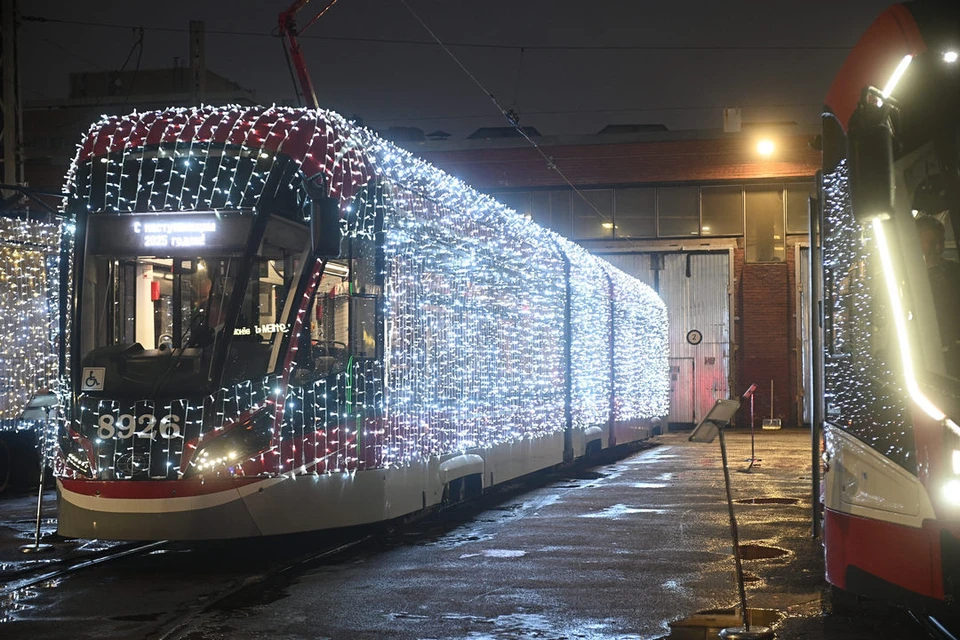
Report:
[[956,3],[894,5],[823,119],[826,577],[911,608],[960,595],[958,52]]

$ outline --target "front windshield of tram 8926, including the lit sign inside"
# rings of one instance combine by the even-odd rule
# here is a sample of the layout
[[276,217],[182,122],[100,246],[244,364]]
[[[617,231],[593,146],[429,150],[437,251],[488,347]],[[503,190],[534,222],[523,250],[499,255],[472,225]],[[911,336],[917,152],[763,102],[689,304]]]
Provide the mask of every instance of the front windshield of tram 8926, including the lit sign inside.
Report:
[[104,391],[196,394],[269,372],[309,234],[271,217],[247,256],[253,217],[89,217],[78,355],[105,370]]

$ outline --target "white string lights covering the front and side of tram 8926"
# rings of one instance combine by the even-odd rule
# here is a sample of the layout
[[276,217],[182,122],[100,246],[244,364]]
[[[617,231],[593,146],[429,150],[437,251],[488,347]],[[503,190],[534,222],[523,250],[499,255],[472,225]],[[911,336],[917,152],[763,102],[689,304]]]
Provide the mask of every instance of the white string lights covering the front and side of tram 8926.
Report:
[[[575,428],[667,413],[667,317],[656,293],[336,113],[105,116],[78,148],[63,207],[264,215],[265,202],[295,201],[307,224],[307,183],[339,202],[343,246],[365,256],[353,259],[349,295],[376,307],[364,331],[378,355],[360,354],[358,337],[344,371],[312,381],[298,378],[307,358],[291,346],[269,375],[204,398],[81,394],[62,474],[353,472],[549,436],[566,428],[567,410]],[[308,268],[294,334],[309,324],[322,265]],[[131,435],[145,413],[160,421],[158,437]]]

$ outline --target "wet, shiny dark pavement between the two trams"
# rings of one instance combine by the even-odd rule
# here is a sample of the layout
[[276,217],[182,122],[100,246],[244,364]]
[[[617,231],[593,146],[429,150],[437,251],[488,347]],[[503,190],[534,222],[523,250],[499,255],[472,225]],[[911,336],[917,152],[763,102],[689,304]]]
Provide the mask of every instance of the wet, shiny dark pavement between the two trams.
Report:
[[[716,637],[738,624],[723,473],[718,443],[690,443],[688,435],[670,433],[625,458],[545,476],[521,492],[484,498],[466,515],[400,527],[343,562],[306,567],[209,608],[169,637]],[[889,607],[831,612],[822,548],[810,535],[808,432],[758,431],[761,461],[749,472],[749,432],[729,431],[727,440],[754,623],[773,626],[783,640],[926,637]],[[52,491],[43,502],[42,542],[53,549],[24,554],[36,494],[0,495],[0,605],[38,571],[117,548],[58,538]],[[145,593],[169,589],[149,576],[124,579]],[[55,622],[56,599],[37,598],[44,620]],[[0,637],[57,637],[55,625],[29,612],[0,612],[0,620],[8,620]]]

